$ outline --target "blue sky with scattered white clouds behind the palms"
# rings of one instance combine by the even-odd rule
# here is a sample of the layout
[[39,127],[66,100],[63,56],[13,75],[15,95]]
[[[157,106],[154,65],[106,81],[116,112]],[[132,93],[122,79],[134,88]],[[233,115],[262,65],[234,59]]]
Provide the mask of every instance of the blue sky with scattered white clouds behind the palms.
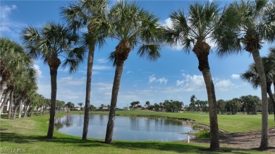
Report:
[[[50,20],[61,22],[59,15],[61,6],[72,1],[0,1],[0,35],[20,42],[20,32],[23,27],[33,25],[41,27]],[[189,4],[194,1],[138,1],[138,4],[160,18],[160,24],[169,25],[169,13],[178,9],[187,11]],[[219,1],[221,5],[229,1]],[[115,1],[111,1],[114,4]],[[91,104],[108,105],[111,101],[111,88],[114,79],[114,68],[109,63],[108,55],[114,51],[116,40],[108,39],[104,48],[97,49],[94,54],[92,75]],[[271,44],[264,44],[261,55],[268,53]],[[252,63],[252,56],[247,52],[219,58],[212,50],[209,55],[209,65],[214,80],[216,98],[228,100],[243,95],[260,96],[260,91],[252,89],[250,84],[240,79],[240,73],[247,70]],[[140,58],[133,50],[126,60],[121,78],[117,106],[129,106],[132,101],[146,101],[151,104],[173,99],[190,103],[190,96],[195,94],[197,99],[207,100],[202,73],[197,69],[198,61],[194,53],[186,54],[179,48],[162,46],[161,58],[157,62],[149,62]],[[34,67],[38,72],[38,93],[50,98],[50,75],[48,65],[42,60],[36,60]],[[57,79],[57,99],[77,103],[85,102],[86,61],[80,65],[78,72],[68,74],[59,68]]]

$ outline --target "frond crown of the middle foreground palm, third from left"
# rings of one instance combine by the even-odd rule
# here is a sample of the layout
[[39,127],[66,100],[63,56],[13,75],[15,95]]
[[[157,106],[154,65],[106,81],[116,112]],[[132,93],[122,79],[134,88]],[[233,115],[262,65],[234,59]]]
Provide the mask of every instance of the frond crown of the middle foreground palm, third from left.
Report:
[[160,57],[161,40],[161,27],[158,21],[159,18],[137,4],[127,1],[116,3],[109,13],[109,22],[112,25],[111,37],[120,41],[116,46],[116,52],[110,56],[114,64],[119,60],[126,60],[130,51],[138,44],[140,44],[139,56],[157,60]]

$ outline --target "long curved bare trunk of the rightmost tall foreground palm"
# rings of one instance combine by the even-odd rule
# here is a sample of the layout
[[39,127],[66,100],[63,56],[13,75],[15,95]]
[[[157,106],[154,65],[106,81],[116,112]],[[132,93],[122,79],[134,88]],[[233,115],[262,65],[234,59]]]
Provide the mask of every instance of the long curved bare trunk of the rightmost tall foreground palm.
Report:
[[259,55],[259,50],[252,51],[252,56],[261,81],[262,92],[262,138],[259,148],[267,148],[269,146],[269,129],[268,129],[268,101],[267,101],[267,79],[262,65],[262,58]]

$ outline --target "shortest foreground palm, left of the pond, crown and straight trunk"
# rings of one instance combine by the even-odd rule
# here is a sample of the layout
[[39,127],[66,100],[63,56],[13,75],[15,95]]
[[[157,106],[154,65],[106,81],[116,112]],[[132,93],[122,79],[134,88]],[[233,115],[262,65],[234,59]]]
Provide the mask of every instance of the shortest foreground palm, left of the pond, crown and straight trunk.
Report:
[[69,72],[75,72],[83,60],[84,49],[75,48],[78,36],[71,34],[64,25],[54,22],[46,23],[39,30],[28,26],[22,32],[23,42],[28,54],[33,58],[41,57],[44,63],[49,65],[51,74],[51,109],[47,138],[51,139],[54,134],[54,116],[56,110],[56,76],[60,56],[63,59],[63,68],[69,65]]

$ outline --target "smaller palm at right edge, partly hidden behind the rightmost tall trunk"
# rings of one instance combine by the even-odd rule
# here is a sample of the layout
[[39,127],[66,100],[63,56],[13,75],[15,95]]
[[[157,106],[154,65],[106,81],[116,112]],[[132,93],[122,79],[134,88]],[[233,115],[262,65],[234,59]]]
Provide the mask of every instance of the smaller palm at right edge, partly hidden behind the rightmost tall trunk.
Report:
[[[271,91],[271,85],[273,83],[272,79],[275,76],[275,72],[274,72],[275,60],[269,57],[262,57],[262,64],[264,65],[264,74],[266,75],[266,79],[267,79],[267,94],[269,95],[269,98],[275,110],[275,99]],[[246,70],[240,77],[246,80],[247,82],[250,82],[250,84],[252,84],[254,89],[257,89],[259,86],[261,86],[259,73],[257,72],[255,63],[252,63],[249,66],[248,70]],[[275,115],[274,115],[274,121],[275,121]]]

